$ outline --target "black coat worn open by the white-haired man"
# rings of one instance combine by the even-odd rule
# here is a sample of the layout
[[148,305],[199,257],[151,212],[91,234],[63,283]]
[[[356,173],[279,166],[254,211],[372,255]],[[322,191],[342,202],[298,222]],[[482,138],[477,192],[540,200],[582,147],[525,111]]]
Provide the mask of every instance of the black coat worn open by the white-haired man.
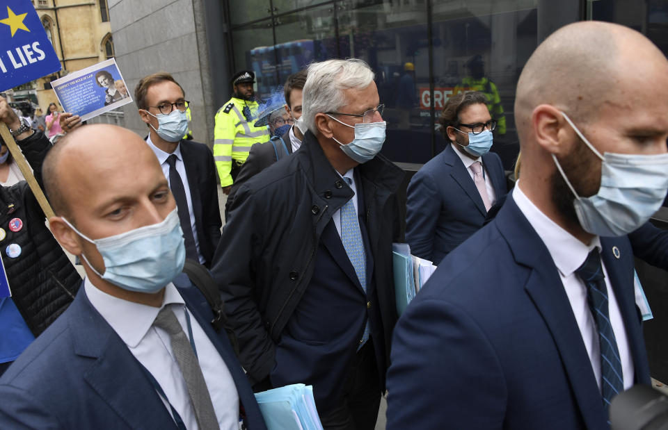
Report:
[[[392,242],[403,239],[396,192],[404,172],[380,155],[356,169],[389,363],[397,322]],[[239,187],[212,272],[252,381],[269,375],[276,343],[313,275],[321,234],[352,195],[310,132],[293,156]]]

